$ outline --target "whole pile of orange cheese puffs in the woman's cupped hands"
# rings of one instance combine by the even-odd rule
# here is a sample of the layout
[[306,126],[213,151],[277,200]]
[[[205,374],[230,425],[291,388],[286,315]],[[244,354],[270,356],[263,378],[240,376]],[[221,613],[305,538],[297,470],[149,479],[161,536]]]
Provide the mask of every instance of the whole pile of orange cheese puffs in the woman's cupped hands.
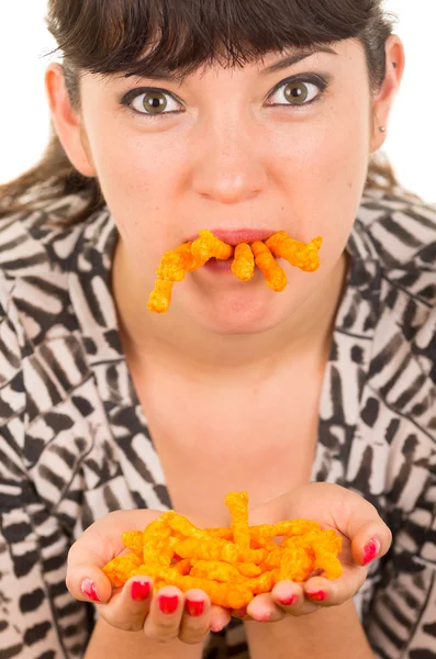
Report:
[[103,572],[115,588],[136,574],[150,577],[155,592],[166,584],[183,592],[199,588],[213,604],[227,608],[243,608],[284,579],[340,577],[342,537],[335,530],[323,530],[312,520],[249,526],[247,492],[230,492],[225,503],[232,518],[228,528],[200,528],[168,511],[144,532],[123,533],[132,552],[108,562]]

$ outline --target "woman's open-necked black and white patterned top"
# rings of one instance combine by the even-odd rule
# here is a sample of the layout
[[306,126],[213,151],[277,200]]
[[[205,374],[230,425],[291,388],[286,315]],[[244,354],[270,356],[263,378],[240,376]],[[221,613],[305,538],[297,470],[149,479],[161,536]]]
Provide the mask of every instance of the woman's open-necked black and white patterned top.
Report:
[[[118,509],[170,506],[121,348],[105,208],[66,197],[0,222],[0,659],[82,657],[93,605],[68,548]],[[382,659],[436,657],[436,209],[367,191],[347,247],[312,480],[361,493],[393,532],[356,606]],[[248,657],[244,626],[210,659]]]

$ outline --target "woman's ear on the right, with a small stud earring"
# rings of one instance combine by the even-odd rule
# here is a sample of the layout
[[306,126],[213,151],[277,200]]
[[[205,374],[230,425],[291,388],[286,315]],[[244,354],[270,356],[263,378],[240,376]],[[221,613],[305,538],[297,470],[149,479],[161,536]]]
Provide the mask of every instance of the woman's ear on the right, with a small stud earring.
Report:
[[[384,48],[387,58],[385,76],[371,103],[370,153],[378,150],[385,141],[389,115],[401,86],[405,65],[403,43],[396,34],[391,34],[387,38]],[[380,131],[381,127],[384,127],[385,131]]]

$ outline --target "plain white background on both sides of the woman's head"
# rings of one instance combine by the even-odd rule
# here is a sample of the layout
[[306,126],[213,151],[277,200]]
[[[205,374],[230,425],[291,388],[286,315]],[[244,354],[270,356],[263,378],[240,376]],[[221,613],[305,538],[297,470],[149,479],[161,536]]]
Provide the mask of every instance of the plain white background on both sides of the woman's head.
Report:
[[[436,0],[385,0],[385,7],[399,15],[407,62],[383,150],[400,181],[435,203]],[[51,58],[43,55],[55,43],[45,11],[46,0],[0,0],[0,182],[32,166],[48,139],[44,71]]]

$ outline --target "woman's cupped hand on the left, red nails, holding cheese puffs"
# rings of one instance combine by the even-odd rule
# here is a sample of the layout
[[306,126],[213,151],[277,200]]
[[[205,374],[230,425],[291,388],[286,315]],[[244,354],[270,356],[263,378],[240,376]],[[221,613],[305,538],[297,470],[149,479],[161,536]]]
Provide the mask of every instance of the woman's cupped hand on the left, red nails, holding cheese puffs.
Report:
[[115,589],[102,571],[115,556],[130,554],[121,540],[124,530],[143,529],[160,515],[159,511],[116,511],[94,522],[69,550],[67,588],[76,600],[93,601],[112,627],[143,629],[155,640],[179,638],[198,644],[210,629],[217,632],[230,621],[230,612],[211,605],[203,591],[182,593],[166,585],[153,595],[154,583],[148,577],[132,577]]

